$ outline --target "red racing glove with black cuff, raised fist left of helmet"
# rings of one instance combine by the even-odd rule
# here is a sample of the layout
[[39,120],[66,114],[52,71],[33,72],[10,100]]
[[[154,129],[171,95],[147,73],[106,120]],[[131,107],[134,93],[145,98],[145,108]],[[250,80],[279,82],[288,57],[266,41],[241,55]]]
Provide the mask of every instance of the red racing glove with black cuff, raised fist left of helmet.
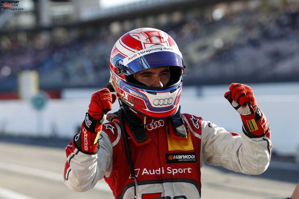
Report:
[[116,94],[111,94],[107,88],[91,95],[88,112],[82,122],[81,131],[75,135],[73,143],[79,151],[86,154],[98,152],[98,140],[102,131],[102,123],[106,114],[112,109]]

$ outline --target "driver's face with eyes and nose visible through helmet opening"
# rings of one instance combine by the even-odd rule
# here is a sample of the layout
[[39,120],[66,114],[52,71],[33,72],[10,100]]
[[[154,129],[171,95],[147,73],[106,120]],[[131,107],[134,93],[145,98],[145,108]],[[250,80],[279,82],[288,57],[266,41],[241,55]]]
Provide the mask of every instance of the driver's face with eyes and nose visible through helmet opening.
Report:
[[148,87],[165,87],[170,80],[169,68],[165,66],[136,72],[135,79]]

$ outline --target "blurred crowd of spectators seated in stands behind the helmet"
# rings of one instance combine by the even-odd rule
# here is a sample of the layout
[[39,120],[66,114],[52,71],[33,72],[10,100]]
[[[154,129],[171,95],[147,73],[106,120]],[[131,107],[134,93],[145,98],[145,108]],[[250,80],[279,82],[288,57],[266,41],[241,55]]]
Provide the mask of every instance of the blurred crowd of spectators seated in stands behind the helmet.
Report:
[[[245,9],[216,19],[189,16],[153,28],[177,42],[186,84],[295,81],[299,76],[298,6]],[[0,90],[15,90],[17,74],[26,69],[39,72],[44,89],[102,87],[109,79],[111,49],[125,32],[90,25],[4,35]]]

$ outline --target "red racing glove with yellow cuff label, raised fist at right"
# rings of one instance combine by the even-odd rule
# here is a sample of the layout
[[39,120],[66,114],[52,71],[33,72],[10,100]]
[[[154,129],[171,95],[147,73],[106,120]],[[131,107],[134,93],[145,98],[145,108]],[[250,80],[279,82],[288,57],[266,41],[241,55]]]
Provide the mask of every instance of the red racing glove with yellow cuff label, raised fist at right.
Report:
[[244,133],[250,138],[264,137],[269,124],[264,113],[257,108],[252,89],[239,83],[232,83],[224,97],[240,114]]

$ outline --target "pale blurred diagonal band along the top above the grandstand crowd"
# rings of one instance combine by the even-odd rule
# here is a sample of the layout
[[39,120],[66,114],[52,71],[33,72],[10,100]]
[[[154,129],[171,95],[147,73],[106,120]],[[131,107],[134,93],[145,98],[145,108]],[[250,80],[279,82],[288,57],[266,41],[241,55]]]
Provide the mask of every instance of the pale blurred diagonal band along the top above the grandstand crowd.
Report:
[[76,22],[55,24],[49,26],[38,26],[33,28],[14,28],[6,30],[2,28],[0,33],[13,33],[17,31],[41,31],[52,28],[71,28],[74,26],[88,26],[91,24],[109,24],[113,21],[131,20],[138,17],[147,17],[174,11],[188,10],[194,7],[204,7],[222,2],[233,2],[236,0],[150,0],[133,2],[107,9],[98,7],[86,8]]

